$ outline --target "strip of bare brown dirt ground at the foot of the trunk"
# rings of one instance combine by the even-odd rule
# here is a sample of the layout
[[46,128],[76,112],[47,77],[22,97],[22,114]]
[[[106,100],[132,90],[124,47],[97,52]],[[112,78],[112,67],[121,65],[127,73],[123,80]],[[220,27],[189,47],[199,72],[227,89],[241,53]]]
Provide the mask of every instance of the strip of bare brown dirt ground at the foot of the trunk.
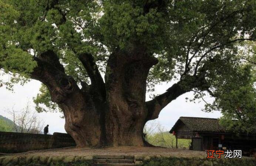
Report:
[[174,156],[174,157],[206,157],[206,152],[176,148],[149,147],[117,147],[117,148],[66,148],[23,153],[20,156],[94,156],[94,155],[140,155],[140,156]]

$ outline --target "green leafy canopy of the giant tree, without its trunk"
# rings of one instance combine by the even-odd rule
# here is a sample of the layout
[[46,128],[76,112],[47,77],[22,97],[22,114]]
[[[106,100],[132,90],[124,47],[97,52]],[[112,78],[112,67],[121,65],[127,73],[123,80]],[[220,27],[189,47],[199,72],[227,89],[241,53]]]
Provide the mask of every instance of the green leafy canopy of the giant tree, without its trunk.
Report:
[[[255,6],[255,0],[0,0],[1,74],[13,75],[0,85],[26,82],[34,57],[52,50],[81,87],[90,79],[78,54],[94,55],[104,74],[111,52],[139,47],[159,61],[149,72],[149,91],[203,73],[208,88],[193,91],[195,99],[205,90],[215,97],[205,110],[255,125],[255,63],[243,62],[248,51],[239,48],[255,41]],[[34,99],[38,111],[42,104],[55,109],[42,86]]]

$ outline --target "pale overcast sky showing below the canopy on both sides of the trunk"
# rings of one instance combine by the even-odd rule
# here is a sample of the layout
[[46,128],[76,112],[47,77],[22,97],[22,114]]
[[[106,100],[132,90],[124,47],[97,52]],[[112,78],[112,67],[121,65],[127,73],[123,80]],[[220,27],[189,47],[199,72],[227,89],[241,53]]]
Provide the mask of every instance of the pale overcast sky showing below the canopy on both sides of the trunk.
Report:
[[[156,86],[156,93],[161,94],[166,91],[173,83],[162,84]],[[11,116],[7,112],[7,110],[11,110],[14,108],[16,111],[23,109],[27,102],[30,101],[31,105],[33,105],[33,97],[37,95],[39,92],[41,83],[39,81],[30,81],[24,86],[15,85],[14,92],[8,91],[6,88],[0,88],[0,115],[6,116],[11,119]],[[186,97],[192,98],[193,93],[189,92],[179,96],[176,100],[172,101],[168,104],[160,113],[159,121],[163,126],[165,126],[166,130],[170,130],[174,123],[179,119],[180,116],[194,116],[194,117],[205,117],[205,118],[219,118],[221,116],[220,112],[210,112],[206,113],[201,111],[204,107],[203,102],[201,103],[193,103],[186,102]],[[147,95],[147,99],[149,99]],[[212,101],[212,98],[205,98],[206,101]],[[61,119],[61,113],[51,113],[51,112],[43,112],[38,113],[38,117],[43,119],[44,124],[49,125],[49,132],[53,134],[53,132],[65,132],[64,123],[65,120]]]

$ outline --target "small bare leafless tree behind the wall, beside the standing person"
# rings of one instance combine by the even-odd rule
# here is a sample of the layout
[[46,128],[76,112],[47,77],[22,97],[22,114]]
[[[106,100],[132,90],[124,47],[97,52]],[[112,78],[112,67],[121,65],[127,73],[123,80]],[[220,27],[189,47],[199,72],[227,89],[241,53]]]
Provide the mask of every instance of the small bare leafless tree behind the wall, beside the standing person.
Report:
[[36,116],[36,111],[31,111],[29,103],[26,107],[17,112],[14,109],[9,111],[12,116],[13,130],[17,133],[34,133],[39,134],[43,131],[44,122]]

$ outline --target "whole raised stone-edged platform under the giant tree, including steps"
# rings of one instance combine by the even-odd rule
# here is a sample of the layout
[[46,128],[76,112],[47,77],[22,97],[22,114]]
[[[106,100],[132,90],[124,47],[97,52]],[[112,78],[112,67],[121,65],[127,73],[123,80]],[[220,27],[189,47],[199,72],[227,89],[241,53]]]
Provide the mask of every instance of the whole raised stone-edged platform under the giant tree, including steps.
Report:
[[0,166],[256,166],[253,157],[206,156],[206,152],[168,148],[68,148],[3,155]]

